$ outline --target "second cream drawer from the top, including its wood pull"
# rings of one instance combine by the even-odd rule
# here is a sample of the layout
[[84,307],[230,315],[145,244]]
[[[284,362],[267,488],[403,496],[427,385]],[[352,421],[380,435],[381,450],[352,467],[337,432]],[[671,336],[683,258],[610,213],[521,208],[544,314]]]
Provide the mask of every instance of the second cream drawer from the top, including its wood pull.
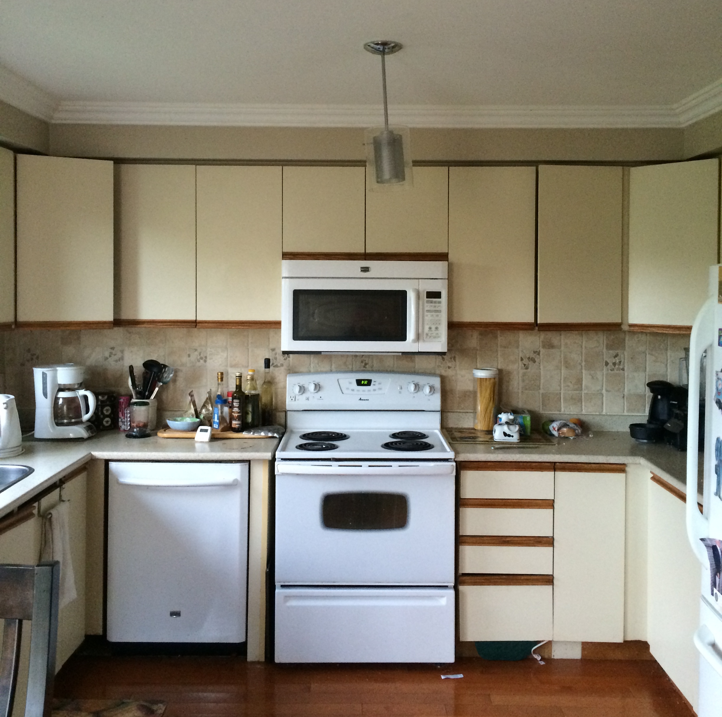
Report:
[[461,535],[554,535],[553,500],[479,500],[462,498]]

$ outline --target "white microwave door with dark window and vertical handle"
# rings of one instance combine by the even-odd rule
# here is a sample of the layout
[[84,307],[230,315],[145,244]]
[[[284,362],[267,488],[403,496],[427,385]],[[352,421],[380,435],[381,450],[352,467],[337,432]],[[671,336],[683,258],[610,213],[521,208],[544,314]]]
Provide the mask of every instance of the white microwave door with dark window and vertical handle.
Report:
[[419,279],[282,279],[284,352],[418,352]]

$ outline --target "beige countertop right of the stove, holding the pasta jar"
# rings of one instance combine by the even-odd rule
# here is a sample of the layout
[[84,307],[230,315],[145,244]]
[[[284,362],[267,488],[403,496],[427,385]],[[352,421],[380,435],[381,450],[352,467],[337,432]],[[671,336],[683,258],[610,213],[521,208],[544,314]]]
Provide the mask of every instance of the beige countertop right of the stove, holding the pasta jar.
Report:
[[[687,453],[662,443],[637,443],[628,431],[593,431],[580,438],[553,438],[550,446],[519,448],[510,443],[451,443],[457,461],[529,461],[555,463],[641,464],[686,492]],[[699,492],[702,492],[703,454],[699,454]]]

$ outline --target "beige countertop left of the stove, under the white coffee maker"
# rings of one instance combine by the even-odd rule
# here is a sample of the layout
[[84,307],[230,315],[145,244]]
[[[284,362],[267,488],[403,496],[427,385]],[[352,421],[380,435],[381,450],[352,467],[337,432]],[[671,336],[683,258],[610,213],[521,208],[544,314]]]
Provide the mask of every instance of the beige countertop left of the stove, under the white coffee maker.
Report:
[[30,466],[35,472],[0,492],[0,517],[10,513],[92,459],[105,461],[270,461],[279,439],[239,438],[196,443],[190,439],[126,438],[121,431],[105,431],[87,440],[32,440],[23,452],[0,464]]

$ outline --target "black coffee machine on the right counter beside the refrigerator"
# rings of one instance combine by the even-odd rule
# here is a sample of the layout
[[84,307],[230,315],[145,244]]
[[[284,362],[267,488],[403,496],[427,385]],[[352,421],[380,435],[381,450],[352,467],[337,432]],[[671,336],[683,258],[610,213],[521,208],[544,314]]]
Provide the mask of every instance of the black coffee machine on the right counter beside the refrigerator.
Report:
[[630,435],[640,443],[664,440],[677,451],[686,451],[687,388],[669,381],[650,381],[647,388],[652,394],[647,422],[630,424]]

